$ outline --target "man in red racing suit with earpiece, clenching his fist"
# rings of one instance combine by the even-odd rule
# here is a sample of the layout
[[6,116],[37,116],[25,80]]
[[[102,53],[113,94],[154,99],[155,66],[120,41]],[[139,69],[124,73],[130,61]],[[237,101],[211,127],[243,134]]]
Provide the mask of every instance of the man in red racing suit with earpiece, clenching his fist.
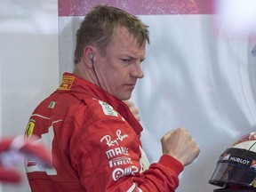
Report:
[[[32,191],[174,191],[199,154],[185,128],[167,132],[163,156],[148,167],[142,127],[129,100],[149,43],[148,26],[116,7],[98,5],[76,33],[74,73],[34,111],[27,137],[52,151],[53,167],[28,159]],[[135,110],[136,111],[136,110]],[[138,113],[134,112],[138,116]],[[138,117],[137,117],[138,118]]]

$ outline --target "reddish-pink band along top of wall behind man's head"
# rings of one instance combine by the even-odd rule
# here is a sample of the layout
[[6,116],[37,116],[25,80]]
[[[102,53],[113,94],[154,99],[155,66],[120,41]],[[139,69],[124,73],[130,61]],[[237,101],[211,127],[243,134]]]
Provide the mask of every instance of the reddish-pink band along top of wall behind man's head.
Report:
[[96,4],[109,4],[135,15],[212,14],[214,0],[59,0],[59,16],[84,16]]

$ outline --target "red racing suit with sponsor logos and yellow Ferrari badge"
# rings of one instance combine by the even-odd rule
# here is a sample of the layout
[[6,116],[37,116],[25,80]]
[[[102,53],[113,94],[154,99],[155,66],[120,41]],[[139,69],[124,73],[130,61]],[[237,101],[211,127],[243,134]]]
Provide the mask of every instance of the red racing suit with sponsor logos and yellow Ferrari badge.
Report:
[[39,136],[52,152],[52,166],[28,158],[32,192],[175,191],[183,165],[164,155],[145,168],[141,131],[123,101],[65,73],[60,87],[35,109],[25,132]]

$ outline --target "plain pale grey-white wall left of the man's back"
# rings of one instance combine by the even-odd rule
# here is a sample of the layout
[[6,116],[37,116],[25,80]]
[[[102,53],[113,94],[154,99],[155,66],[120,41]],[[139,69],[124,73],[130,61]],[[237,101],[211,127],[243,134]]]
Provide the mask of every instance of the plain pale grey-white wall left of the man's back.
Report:
[[[58,86],[58,49],[57,0],[1,0],[2,137],[23,134],[38,102]],[[30,191],[22,164],[20,172],[20,185],[4,185],[0,191]]]

